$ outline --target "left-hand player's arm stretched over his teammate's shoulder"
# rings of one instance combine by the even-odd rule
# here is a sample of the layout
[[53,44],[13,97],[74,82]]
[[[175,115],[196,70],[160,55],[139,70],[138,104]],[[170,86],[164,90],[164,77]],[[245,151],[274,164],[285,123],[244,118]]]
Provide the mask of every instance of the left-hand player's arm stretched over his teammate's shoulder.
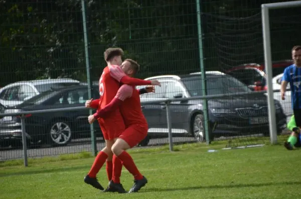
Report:
[[120,66],[112,65],[110,67],[111,76],[117,81],[128,85],[161,85],[158,80],[143,80],[127,76]]

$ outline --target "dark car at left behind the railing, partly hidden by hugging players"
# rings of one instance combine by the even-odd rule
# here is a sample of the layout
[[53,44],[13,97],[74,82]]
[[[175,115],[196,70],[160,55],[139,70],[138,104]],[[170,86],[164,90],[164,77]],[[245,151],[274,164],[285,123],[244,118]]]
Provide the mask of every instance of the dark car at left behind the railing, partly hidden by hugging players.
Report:
[[[93,86],[93,98],[99,98],[97,85]],[[84,106],[87,99],[87,86],[68,86],[46,90],[15,107],[6,108],[4,112]],[[26,134],[28,139],[34,144],[65,145],[72,138],[90,136],[88,115],[88,109],[28,114],[25,118]],[[102,136],[97,122],[94,122],[94,130],[98,136]],[[9,143],[20,144],[22,141],[22,130],[19,116],[5,116],[0,119],[0,140],[2,142],[1,145],[8,145]]]

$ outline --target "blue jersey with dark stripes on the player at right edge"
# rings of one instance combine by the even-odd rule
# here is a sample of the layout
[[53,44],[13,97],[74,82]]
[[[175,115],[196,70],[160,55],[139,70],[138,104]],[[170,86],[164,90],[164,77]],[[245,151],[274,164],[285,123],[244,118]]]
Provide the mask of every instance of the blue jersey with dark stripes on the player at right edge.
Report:
[[291,90],[291,107],[301,108],[301,68],[292,64],[284,69],[282,79],[288,81]]

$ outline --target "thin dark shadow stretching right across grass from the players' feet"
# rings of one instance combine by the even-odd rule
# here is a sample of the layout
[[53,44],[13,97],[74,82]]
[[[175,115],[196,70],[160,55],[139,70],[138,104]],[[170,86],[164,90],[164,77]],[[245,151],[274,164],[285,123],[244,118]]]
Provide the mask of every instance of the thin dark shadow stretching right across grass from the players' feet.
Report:
[[243,187],[259,187],[259,186],[274,186],[274,185],[298,185],[301,182],[283,181],[283,182],[266,182],[266,183],[246,183],[246,184],[224,184],[224,185],[209,185],[209,186],[188,186],[178,188],[145,188],[141,192],[156,192],[156,191],[177,191],[177,190],[196,190],[196,189],[215,189],[215,188],[243,188]]

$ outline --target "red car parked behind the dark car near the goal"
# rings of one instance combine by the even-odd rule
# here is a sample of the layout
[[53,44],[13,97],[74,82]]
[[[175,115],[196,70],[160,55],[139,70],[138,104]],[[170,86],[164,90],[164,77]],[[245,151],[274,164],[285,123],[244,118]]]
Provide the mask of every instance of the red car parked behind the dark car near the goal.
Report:
[[[293,60],[280,60],[272,62],[273,76],[282,73],[285,67],[291,64],[293,64]],[[247,84],[249,88],[254,91],[267,89],[264,63],[242,64],[226,70],[225,73],[230,74],[243,83]]]

